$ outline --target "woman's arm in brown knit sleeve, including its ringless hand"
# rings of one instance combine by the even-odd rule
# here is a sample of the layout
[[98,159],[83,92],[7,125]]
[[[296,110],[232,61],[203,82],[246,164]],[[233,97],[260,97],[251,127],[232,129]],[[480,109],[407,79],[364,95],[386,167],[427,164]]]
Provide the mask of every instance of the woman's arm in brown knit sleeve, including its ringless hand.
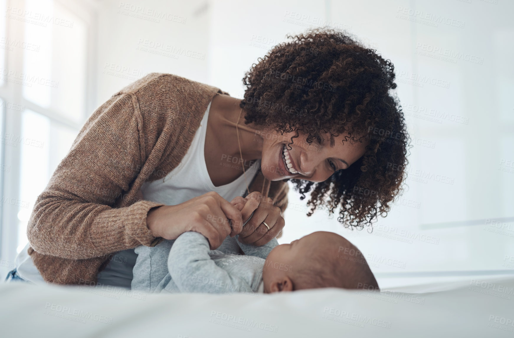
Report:
[[206,236],[211,249],[228,234],[237,235],[241,212],[216,193],[177,205],[132,204],[144,181],[166,176],[178,163],[187,151],[185,135],[192,138],[200,122],[196,109],[207,107],[218,92],[152,73],[99,107],[36,200],[27,230],[32,248],[87,259],[151,246],[156,237],[175,239],[185,231]]

